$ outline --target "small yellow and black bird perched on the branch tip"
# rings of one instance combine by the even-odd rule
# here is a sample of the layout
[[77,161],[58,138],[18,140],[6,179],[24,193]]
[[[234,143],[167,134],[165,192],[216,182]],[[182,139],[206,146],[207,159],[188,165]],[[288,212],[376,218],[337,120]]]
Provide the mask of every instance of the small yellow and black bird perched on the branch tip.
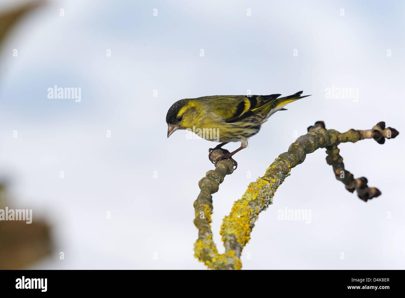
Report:
[[235,169],[237,162],[233,155],[247,147],[247,140],[256,135],[264,122],[277,111],[286,110],[285,105],[302,99],[303,91],[279,98],[281,94],[271,95],[214,95],[192,99],[180,99],[168,109],[166,123],[167,137],[178,129],[192,131],[209,141],[220,142],[215,148],[209,148],[209,158],[214,150],[229,142],[241,142],[241,146],[215,161],[231,159]]

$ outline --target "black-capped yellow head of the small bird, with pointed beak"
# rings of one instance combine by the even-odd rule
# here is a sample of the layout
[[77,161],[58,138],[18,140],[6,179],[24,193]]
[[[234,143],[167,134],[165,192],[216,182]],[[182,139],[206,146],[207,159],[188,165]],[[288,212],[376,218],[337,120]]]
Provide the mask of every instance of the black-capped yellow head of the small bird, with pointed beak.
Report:
[[177,129],[192,128],[196,124],[196,119],[197,109],[193,101],[189,99],[176,101],[167,111],[167,137],[170,137]]

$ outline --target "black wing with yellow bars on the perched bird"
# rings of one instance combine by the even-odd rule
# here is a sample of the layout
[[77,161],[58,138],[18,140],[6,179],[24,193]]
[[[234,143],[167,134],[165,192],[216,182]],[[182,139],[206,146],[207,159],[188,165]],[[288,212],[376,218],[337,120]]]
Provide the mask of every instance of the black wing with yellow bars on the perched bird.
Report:
[[249,117],[268,107],[281,94],[251,95],[251,96],[230,96],[228,109],[223,113],[224,120],[228,123],[237,122]]

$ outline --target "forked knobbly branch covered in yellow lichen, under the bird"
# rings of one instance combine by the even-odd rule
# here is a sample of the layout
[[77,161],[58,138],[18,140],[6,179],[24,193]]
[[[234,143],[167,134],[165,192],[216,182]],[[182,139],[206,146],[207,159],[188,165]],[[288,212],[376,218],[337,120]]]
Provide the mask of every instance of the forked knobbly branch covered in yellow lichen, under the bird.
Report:
[[[308,133],[298,137],[266,170],[266,173],[255,182],[249,184],[247,191],[241,199],[234,203],[232,210],[222,222],[221,235],[225,246],[225,253],[217,251],[212,238],[211,214],[213,212],[212,194],[218,191],[219,184],[224,181],[228,174],[233,172],[233,163],[229,159],[217,163],[215,170],[208,171],[206,176],[198,183],[201,191],[194,202],[194,224],[198,228],[198,240],[194,244],[194,255],[199,261],[204,262],[211,269],[241,269],[240,256],[243,247],[249,242],[250,233],[254,227],[258,215],[273,203],[273,196],[284,179],[290,175],[290,170],[303,163],[306,154],[319,148],[326,148],[328,164],[333,166],[335,175],[341,180],[346,188],[367,201],[377,197],[381,193],[378,189],[369,188],[367,179],[362,177],[354,179],[353,175],[345,170],[343,159],[339,155],[337,146],[340,143],[352,142],[362,139],[375,139],[379,144],[384,144],[385,138],[394,138],[398,131],[388,127],[385,129],[384,122],[379,122],[370,130],[350,129],[345,133],[339,133],[333,129],[326,130],[322,121],[308,127]],[[215,161],[222,154],[217,149],[211,155],[211,161]]]

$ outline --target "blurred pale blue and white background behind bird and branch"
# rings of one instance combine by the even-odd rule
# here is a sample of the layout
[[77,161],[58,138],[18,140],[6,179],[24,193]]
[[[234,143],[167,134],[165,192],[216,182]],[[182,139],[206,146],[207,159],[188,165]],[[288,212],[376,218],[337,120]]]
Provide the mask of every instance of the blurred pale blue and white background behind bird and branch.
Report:
[[[312,94],[273,115],[213,195],[213,233],[307,126],[400,135],[339,146],[382,195],[364,203],[307,155],[259,216],[243,269],[404,269],[403,1],[23,1],[0,4],[2,269],[205,269],[193,257],[208,148],[166,138],[177,100]],[[49,98],[76,88],[80,100]],[[80,89],[79,89],[80,88]],[[330,88],[330,89],[328,89]],[[354,88],[358,96],[328,96]],[[358,93],[357,93],[358,92]],[[228,144],[234,150],[239,144]],[[311,221],[278,220],[310,210]]]

